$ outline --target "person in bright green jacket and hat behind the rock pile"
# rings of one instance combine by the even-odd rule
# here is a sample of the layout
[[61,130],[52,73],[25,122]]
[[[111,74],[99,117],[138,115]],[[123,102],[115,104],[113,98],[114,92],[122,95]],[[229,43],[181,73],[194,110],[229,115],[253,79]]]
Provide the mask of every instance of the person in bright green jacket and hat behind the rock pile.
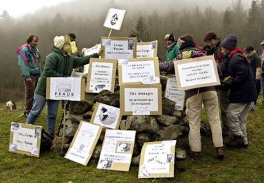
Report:
[[167,53],[166,53],[166,62],[170,62],[174,58],[176,58],[177,53],[179,51],[179,44],[175,41],[175,36],[173,33],[166,34],[165,36],[165,42],[167,43]]

